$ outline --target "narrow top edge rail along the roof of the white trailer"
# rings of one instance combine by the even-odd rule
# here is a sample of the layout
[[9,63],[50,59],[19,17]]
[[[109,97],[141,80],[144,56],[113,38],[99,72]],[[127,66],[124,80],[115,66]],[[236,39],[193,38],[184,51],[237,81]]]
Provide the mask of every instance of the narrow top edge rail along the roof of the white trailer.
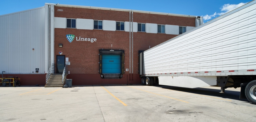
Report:
[[207,22],[207,23],[205,23],[205,24],[203,24],[203,25],[197,26],[197,27],[195,27],[195,28],[193,28],[193,29],[191,29],[191,30],[189,30],[189,31],[187,31],[187,32],[185,32],[185,33],[179,35],[179,36],[176,36],[176,37],[174,37],[174,38],[172,38],[172,39],[169,39],[169,40],[167,40],[167,41],[165,41],[165,42],[163,42],[163,43],[161,43],[161,44],[159,44],[159,45],[156,45],[156,46],[154,46],[154,47],[152,47],[152,48],[150,48],[150,49],[147,49],[147,50],[145,50],[144,52],[147,52],[147,51],[152,50],[152,49],[154,49],[154,48],[156,48],[156,47],[158,47],[158,46],[161,46],[161,45],[163,45],[163,44],[165,44],[165,43],[168,43],[168,42],[170,42],[170,41],[172,41],[172,40],[174,40],[174,39],[177,39],[177,38],[179,38],[179,37],[182,37],[182,36],[188,34],[189,32],[192,32],[192,31],[194,31],[194,30],[196,30],[196,29],[199,29],[199,28],[202,28],[202,27],[204,27],[204,26],[206,26],[206,25],[209,25],[209,24],[211,24],[212,22],[215,22],[215,21],[217,21],[217,20],[219,20],[219,19],[222,19],[222,18],[224,18],[224,17],[226,17],[226,16],[228,16],[228,15],[231,15],[232,13],[235,13],[235,12],[237,12],[237,11],[239,11],[239,10],[242,10],[242,9],[244,9],[244,8],[246,8],[246,7],[249,7],[249,6],[251,6],[251,5],[255,4],[255,3],[256,3],[255,0],[253,0],[253,1],[251,1],[251,2],[248,2],[248,3],[244,4],[243,6],[240,6],[240,7],[236,8],[236,9],[230,11],[230,12],[227,12],[227,13],[225,13],[225,14],[222,15],[222,16],[219,16],[219,17],[217,17],[217,18],[215,18],[215,19],[213,19],[213,20],[211,20],[211,21],[209,21],[209,22]]

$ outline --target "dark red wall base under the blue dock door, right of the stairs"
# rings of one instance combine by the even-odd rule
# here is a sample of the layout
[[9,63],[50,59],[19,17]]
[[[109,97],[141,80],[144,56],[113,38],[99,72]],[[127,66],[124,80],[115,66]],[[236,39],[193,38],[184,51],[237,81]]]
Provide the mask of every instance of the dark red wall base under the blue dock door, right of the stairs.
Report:
[[124,74],[121,79],[102,79],[100,74],[68,74],[67,79],[72,79],[72,85],[109,85],[109,84],[141,84],[141,78],[139,74],[131,74],[131,80],[129,80],[129,74]]

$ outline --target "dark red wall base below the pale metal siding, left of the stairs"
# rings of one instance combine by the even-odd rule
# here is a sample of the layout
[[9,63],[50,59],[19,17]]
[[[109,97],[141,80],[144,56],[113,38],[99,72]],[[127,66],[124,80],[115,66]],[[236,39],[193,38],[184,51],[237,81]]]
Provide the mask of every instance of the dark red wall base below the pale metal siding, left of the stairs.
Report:
[[[22,86],[45,85],[46,74],[3,74],[3,77],[8,78],[8,76],[21,78],[20,82]],[[2,78],[2,76],[0,77]],[[13,84],[11,83],[11,85]]]

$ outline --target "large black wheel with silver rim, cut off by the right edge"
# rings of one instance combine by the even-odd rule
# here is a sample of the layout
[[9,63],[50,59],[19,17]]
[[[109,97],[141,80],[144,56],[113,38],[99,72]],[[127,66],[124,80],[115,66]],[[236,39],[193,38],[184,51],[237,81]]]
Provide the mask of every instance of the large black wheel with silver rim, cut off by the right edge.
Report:
[[251,81],[245,87],[246,98],[253,104],[256,104],[256,80]]

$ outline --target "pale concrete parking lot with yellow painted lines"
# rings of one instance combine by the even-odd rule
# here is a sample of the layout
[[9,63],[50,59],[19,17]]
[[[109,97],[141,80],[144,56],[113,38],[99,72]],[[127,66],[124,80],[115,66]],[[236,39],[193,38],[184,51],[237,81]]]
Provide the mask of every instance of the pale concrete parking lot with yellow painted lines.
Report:
[[0,122],[255,122],[240,89],[108,85],[0,87]]

